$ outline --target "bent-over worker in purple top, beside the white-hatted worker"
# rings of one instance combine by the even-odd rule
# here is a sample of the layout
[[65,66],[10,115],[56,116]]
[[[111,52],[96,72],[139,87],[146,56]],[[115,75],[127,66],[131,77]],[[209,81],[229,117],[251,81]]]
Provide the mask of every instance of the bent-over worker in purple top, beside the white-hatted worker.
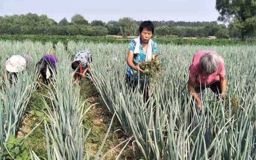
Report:
[[56,71],[57,62],[58,58],[56,56],[43,56],[36,64],[36,70],[39,72],[37,81],[46,85],[49,84],[50,78],[52,78],[54,71]]

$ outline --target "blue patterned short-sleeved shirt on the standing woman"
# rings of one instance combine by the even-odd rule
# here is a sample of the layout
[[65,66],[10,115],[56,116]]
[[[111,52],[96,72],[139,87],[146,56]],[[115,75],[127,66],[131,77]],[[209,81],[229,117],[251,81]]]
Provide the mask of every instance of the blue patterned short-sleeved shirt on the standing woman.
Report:
[[[134,52],[135,46],[136,46],[136,39],[133,39],[132,42],[129,45],[129,49]],[[151,39],[151,45],[152,45],[152,55],[157,54],[158,53],[158,47],[157,47],[157,43]],[[140,62],[144,62],[146,60],[146,52],[143,50],[142,44],[140,43],[140,54],[134,54],[133,57],[133,63],[134,65],[138,65],[138,63]],[[126,74],[128,76],[130,76],[130,78],[132,79],[136,79],[138,77],[136,77],[138,71],[133,70],[132,68],[130,68],[128,65],[126,67]]]

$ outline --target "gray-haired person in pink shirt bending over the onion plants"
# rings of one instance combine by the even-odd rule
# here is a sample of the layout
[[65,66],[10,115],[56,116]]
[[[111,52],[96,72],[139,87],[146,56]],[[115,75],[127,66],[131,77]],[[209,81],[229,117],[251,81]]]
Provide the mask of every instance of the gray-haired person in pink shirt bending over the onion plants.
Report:
[[223,58],[211,50],[197,52],[189,68],[188,90],[201,108],[205,88],[225,98],[227,80]]

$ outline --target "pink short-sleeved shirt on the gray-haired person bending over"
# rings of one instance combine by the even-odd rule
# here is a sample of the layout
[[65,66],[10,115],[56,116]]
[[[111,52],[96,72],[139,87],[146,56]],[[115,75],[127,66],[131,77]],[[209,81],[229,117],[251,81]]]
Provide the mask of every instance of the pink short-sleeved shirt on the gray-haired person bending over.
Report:
[[[206,53],[216,53],[216,52],[211,50],[203,50],[203,51],[197,52],[193,56],[192,64],[189,67],[189,78],[196,79],[195,86],[205,86],[208,84],[213,84],[214,82],[217,82],[218,80],[220,80],[220,77],[225,76],[224,60],[220,55],[219,55],[220,64],[219,64],[218,71],[210,75],[202,74],[199,60],[201,56],[203,56]],[[200,85],[200,82],[201,82],[201,85]]]

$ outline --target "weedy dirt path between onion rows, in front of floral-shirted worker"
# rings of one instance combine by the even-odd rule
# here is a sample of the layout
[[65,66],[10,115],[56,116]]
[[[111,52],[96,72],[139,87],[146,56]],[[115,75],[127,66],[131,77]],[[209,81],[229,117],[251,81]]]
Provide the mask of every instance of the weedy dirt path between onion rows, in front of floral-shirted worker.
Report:
[[[87,146],[92,146],[92,154],[96,154],[98,148],[100,147],[102,140],[104,139],[105,134],[108,131],[108,127],[110,121],[112,119],[112,114],[108,111],[108,108],[104,104],[102,98],[98,94],[95,86],[91,84],[88,80],[82,82],[80,84],[81,90],[80,95],[85,99],[88,99],[88,104],[92,105],[98,103],[92,108],[90,108],[88,114],[86,114],[84,121],[86,128],[91,128],[91,134],[89,140],[86,141]],[[118,131],[116,131],[118,130]],[[116,131],[116,132],[115,132]],[[118,144],[124,142],[127,138],[130,138],[130,135],[126,135],[122,132],[122,128],[117,118],[114,119],[114,122],[111,126],[110,133],[108,135],[106,144],[104,144],[104,148],[102,150],[103,154],[108,150],[114,148]],[[107,159],[112,160],[120,153],[124,144],[118,146],[115,150],[113,150],[107,157]],[[135,156],[135,155],[136,156]],[[141,156],[138,154],[138,151],[134,152],[132,147],[132,142],[126,146],[124,151],[122,152],[122,156],[120,159],[127,160],[136,160]]]

